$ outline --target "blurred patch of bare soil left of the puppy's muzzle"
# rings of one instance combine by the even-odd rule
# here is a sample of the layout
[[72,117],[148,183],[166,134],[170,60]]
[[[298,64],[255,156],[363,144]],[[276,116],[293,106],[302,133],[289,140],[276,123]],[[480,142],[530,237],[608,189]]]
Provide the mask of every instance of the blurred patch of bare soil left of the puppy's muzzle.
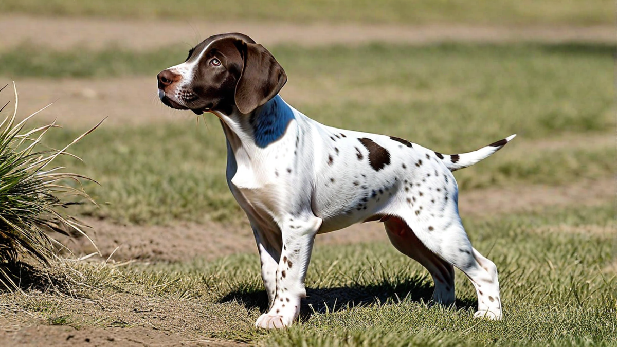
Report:
[[[2,86],[9,82],[9,78],[0,77]],[[15,85],[19,93],[21,117],[53,103],[53,107],[36,115],[36,120],[51,122],[56,119],[64,127],[90,128],[105,117],[108,117],[105,127],[194,120],[191,117],[193,113],[175,111],[162,104],[157,96],[156,83],[156,76],[152,76],[122,80],[24,78]],[[1,101],[12,98],[9,88],[0,94]]]

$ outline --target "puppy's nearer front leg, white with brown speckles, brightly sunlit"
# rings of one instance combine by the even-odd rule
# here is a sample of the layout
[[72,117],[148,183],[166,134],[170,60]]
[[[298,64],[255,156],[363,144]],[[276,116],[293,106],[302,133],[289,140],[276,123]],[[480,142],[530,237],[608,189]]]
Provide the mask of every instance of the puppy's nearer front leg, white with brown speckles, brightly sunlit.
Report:
[[306,296],[304,278],[321,219],[312,214],[290,215],[281,224],[283,249],[276,269],[276,293],[270,311],[255,323],[261,328],[288,327],[300,314],[300,299]]

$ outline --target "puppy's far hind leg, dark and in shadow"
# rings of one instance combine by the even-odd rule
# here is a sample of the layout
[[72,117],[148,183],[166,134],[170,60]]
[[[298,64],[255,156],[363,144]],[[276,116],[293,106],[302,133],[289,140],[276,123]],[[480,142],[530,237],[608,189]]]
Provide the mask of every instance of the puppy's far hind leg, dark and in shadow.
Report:
[[450,305],[454,303],[454,267],[431,252],[413,230],[398,217],[391,217],[384,222],[387,236],[392,245],[400,253],[419,262],[426,267],[435,283],[435,290],[431,300],[434,303]]

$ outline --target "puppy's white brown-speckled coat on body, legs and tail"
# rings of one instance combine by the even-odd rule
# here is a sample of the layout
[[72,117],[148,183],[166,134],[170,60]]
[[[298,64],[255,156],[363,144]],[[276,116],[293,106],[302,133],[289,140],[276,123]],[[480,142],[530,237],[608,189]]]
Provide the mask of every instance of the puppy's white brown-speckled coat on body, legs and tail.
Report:
[[[184,64],[172,69],[188,78],[195,63]],[[275,98],[278,111],[291,110],[293,119],[267,146],[255,140],[252,114],[212,111],[227,139],[227,182],[251,222],[262,262],[270,309],[257,327],[286,327],[299,315],[315,235],[382,217],[395,248],[433,276],[435,303],[454,302],[457,267],[476,288],[474,317],[502,318],[497,268],[468,240],[451,171],[505,143],[446,156],[389,136],[322,125]],[[371,162],[384,151],[387,163]]]

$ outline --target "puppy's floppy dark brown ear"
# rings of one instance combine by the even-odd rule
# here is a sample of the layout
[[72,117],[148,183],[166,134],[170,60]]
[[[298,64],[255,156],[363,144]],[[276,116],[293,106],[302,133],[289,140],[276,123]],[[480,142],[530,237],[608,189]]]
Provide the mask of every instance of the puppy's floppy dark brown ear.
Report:
[[235,98],[240,112],[247,114],[274,98],[287,82],[287,75],[261,44],[242,42],[240,51],[244,67]]

